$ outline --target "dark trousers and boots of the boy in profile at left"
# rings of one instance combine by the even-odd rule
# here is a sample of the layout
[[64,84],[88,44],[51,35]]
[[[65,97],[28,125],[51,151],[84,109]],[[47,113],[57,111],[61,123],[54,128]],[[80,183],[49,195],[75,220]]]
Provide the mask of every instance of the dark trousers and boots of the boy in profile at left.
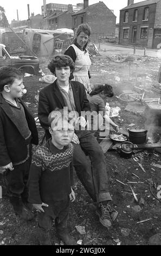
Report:
[[31,164],[31,156],[24,163],[14,166],[14,170],[7,170],[4,175],[10,203],[16,214],[24,220],[31,220],[34,214],[24,205],[28,204],[27,181]]

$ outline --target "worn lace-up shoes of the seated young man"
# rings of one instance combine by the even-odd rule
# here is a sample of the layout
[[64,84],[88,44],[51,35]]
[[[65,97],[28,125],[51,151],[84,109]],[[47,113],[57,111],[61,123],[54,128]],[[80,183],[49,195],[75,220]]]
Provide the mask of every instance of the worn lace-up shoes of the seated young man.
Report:
[[104,227],[110,228],[112,225],[111,221],[114,222],[118,216],[118,211],[116,211],[109,203],[106,205],[100,203],[99,207],[96,209],[96,215],[99,216],[99,220]]

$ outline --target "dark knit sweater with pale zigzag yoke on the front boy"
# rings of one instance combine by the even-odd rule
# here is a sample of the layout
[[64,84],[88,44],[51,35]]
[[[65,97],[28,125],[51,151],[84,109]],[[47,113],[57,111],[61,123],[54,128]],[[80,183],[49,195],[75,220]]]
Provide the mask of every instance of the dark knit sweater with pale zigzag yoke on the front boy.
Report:
[[72,185],[73,145],[57,149],[49,139],[45,146],[38,146],[29,174],[29,203],[63,200]]

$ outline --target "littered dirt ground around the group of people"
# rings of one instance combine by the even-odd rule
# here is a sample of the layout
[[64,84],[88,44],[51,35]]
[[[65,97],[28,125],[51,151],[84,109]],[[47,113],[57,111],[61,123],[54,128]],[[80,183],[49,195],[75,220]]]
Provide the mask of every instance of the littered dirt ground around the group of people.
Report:
[[[126,131],[132,127],[145,127],[144,114],[125,111],[126,102],[118,99],[121,92],[133,90],[134,85],[143,86],[147,95],[156,97],[159,95],[152,91],[152,84],[157,83],[160,60],[147,56],[112,56],[108,52],[100,51],[101,56],[92,57],[91,84],[109,83],[113,86],[114,96],[108,100],[110,107],[120,107],[119,117],[112,120],[120,127],[120,131]],[[41,68],[45,74],[49,60],[41,59]],[[138,75],[136,76],[138,64]],[[45,83],[39,82],[38,76],[25,77],[24,85],[27,94],[23,100],[29,103],[29,108],[37,117],[37,102],[35,95],[44,87]],[[154,127],[155,128],[155,127]],[[43,130],[37,125],[40,141]],[[122,130],[121,130],[122,129]],[[151,139],[159,142],[160,127],[151,133]],[[137,157],[134,161],[133,157]],[[149,245],[150,237],[161,234],[161,200],[157,199],[157,186],[161,185],[160,167],[151,166],[151,163],[161,164],[160,153],[151,150],[135,151],[131,159],[120,157],[116,150],[108,150],[105,154],[107,173],[109,176],[110,192],[113,205],[119,212],[118,219],[113,227],[107,230],[103,227],[95,215],[95,205],[75,175],[76,200],[70,207],[69,230],[75,239],[82,240],[82,245]],[[145,172],[138,165],[142,164]],[[133,175],[136,174],[137,176]],[[121,184],[117,180],[126,185]],[[127,183],[127,182],[136,183]],[[133,197],[130,185],[137,195],[138,202]],[[139,221],[147,220],[144,223]],[[75,226],[85,227],[86,234],[79,234]],[[59,240],[55,235],[55,228],[51,230],[53,245]],[[161,244],[160,240],[155,240]],[[8,197],[4,194],[0,199],[0,245],[38,245],[37,223],[25,222],[18,218],[9,204]]]

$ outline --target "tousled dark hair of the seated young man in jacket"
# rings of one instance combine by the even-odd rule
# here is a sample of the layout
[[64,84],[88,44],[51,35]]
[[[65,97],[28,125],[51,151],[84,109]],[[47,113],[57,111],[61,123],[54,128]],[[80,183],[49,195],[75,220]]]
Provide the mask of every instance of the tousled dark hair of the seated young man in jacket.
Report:
[[70,72],[74,71],[74,62],[68,55],[55,55],[48,65],[48,69],[55,75],[55,68],[61,68],[62,66],[69,66]]

